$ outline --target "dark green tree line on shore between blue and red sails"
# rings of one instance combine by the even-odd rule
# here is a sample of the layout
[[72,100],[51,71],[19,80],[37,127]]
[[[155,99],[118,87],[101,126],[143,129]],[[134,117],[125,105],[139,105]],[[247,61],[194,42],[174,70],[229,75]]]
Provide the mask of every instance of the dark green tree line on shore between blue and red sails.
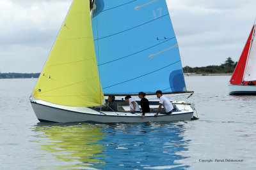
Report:
[[218,73],[233,73],[236,68],[237,62],[234,62],[231,57],[220,66],[206,66],[206,67],[183,67],[183,73],[195,74],[218,74]]

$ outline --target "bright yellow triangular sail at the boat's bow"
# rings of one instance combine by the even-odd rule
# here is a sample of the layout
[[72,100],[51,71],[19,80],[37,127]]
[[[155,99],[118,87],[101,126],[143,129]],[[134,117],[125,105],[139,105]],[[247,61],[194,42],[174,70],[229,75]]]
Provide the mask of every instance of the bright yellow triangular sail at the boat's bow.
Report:
[[73,1],[33,95],[65,106],[102,104],[88,0]]

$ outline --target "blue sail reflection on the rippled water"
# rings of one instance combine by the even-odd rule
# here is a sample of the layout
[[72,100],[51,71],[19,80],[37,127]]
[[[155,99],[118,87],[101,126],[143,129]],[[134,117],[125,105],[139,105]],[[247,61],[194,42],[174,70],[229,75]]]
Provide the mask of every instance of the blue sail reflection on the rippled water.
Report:
[[106,164],[99,169],[186,169],[189,141],[184,139],[184,122],[174,124],[113,124],[104,125],[104,139],[99,141],[102,152],[97,155]]

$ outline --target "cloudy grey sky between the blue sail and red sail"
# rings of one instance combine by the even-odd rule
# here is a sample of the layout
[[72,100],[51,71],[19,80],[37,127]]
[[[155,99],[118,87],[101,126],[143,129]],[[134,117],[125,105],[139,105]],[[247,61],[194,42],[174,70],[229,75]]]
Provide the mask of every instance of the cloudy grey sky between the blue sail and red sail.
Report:
[[256,1],[167,0],[183,66],[239,60],[255,20]]

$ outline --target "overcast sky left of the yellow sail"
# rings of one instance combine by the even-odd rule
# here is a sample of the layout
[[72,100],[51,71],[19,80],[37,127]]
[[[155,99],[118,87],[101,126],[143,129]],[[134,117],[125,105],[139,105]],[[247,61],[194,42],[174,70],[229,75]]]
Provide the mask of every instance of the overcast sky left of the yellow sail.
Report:
[[71,3],[1,0],[0,72],[40,72]]

